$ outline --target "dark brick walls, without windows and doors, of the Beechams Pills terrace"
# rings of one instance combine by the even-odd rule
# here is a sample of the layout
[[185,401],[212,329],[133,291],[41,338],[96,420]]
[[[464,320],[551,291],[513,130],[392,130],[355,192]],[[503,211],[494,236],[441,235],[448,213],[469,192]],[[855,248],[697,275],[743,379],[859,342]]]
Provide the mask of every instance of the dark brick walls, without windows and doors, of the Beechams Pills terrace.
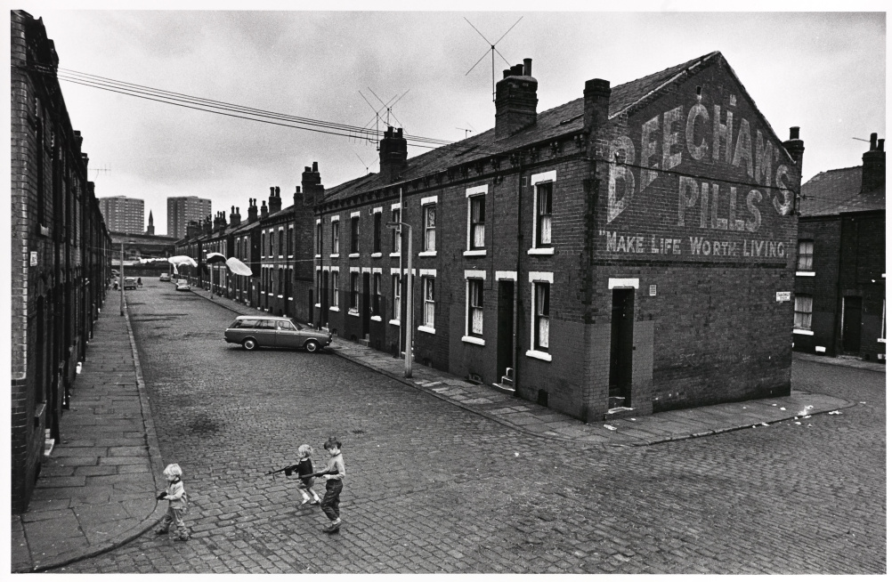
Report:
[[[788,393],[793,304],[778,301],[777,292],[794,285],[797,135],[780,143],[721,60],[611,119],[609,88],[596,81],[585,94],[588,138],[565,135],[513,152],[498,169],[488,163],[447,169],[430,180],[320,205],[319,268],[334,267],[341,282],[329,327],[395,351],[401,328],[386,323],[390,314],[364,327],[361,300],[359,312],[349,313],[350,273],[360,274],[361,297],[361,274],[381,269],[390,305],[389,274],[399,258],[387,249],[372,256],[372,225],[376,208],[389,219],[402,188],[402,220],[413,225],[413,268],[416,275],[435,273],[436,281],[435,332],[425,326],[415,332],[417,363],[499,382],[498,277],[510,277],[516,281],[511,367],[518,395],[599,420],[609,407],[610,281],[635,280],[629,404],[637,414]],[[548,249],[534,241],[534,181],[543,179],[552,193]],[[481,188],[485,253],[469,253],[467,191]],[[423,201],[432,197],[435,255],[422,252]],[[334,215],[340,229],[335,258],[328,248]],[[359,219],[353,257],[351,215]],[[483,278],[483,334],[474,341],[464,339],[468,273]],[[533,349],[533,279],[551,283],[547,353]],[[424,286],[418,276],[414,289],[419,326]]]

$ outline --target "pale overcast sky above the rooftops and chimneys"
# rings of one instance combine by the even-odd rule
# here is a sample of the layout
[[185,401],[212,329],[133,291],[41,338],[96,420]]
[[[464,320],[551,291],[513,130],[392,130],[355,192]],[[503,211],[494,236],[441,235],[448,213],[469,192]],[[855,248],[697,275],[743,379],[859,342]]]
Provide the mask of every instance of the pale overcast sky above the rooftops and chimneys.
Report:
[[[493,127],[490,45],[479,33],[495,42],[521,17],[496,45],[496,78],[508,67],[500,55],[511,64],[532,58],[538,111],[581,97],[587,79],[617,86],[718,50],[781,140],[801,127],[805,179],[860,165],[867,144],[853,137],[886,134],[882,12],[475,12],[498,4],[470,5],[460,12],[180,12],[18,4],[43,18],[62,69],[359,127],[376,115],[359,92],[380,107],[373,91],[388,101],[408,90],[392,124],[411,135],[458,141],[461,128]],[[281,187],[288,206],[313,161],[326,187],[367,166],[377,171],[374,143],[61,85],[96,195],[145,200],[155,234],[167,233],[169,196],[209,198],[227,216],[237,206],[244,218],[248,199],[267,200],[269,186]],[[409,156],[426,151],[410,147]]]

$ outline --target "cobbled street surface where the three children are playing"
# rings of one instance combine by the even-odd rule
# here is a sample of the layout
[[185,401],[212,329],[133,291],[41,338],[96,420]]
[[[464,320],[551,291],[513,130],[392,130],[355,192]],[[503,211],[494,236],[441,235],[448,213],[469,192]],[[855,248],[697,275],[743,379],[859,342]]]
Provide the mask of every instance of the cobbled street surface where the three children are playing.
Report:
[[[148,532],[64,572],[885,573],[881,373],[798,361],[858,402],[651,447],[533,438],[325,351],[244,351],[235,315],[169,283],[130,314],[194,537]],[[298,507],[301,443],[343,440],[343,527]],[[320,495],[324,485],[317,483]]]

